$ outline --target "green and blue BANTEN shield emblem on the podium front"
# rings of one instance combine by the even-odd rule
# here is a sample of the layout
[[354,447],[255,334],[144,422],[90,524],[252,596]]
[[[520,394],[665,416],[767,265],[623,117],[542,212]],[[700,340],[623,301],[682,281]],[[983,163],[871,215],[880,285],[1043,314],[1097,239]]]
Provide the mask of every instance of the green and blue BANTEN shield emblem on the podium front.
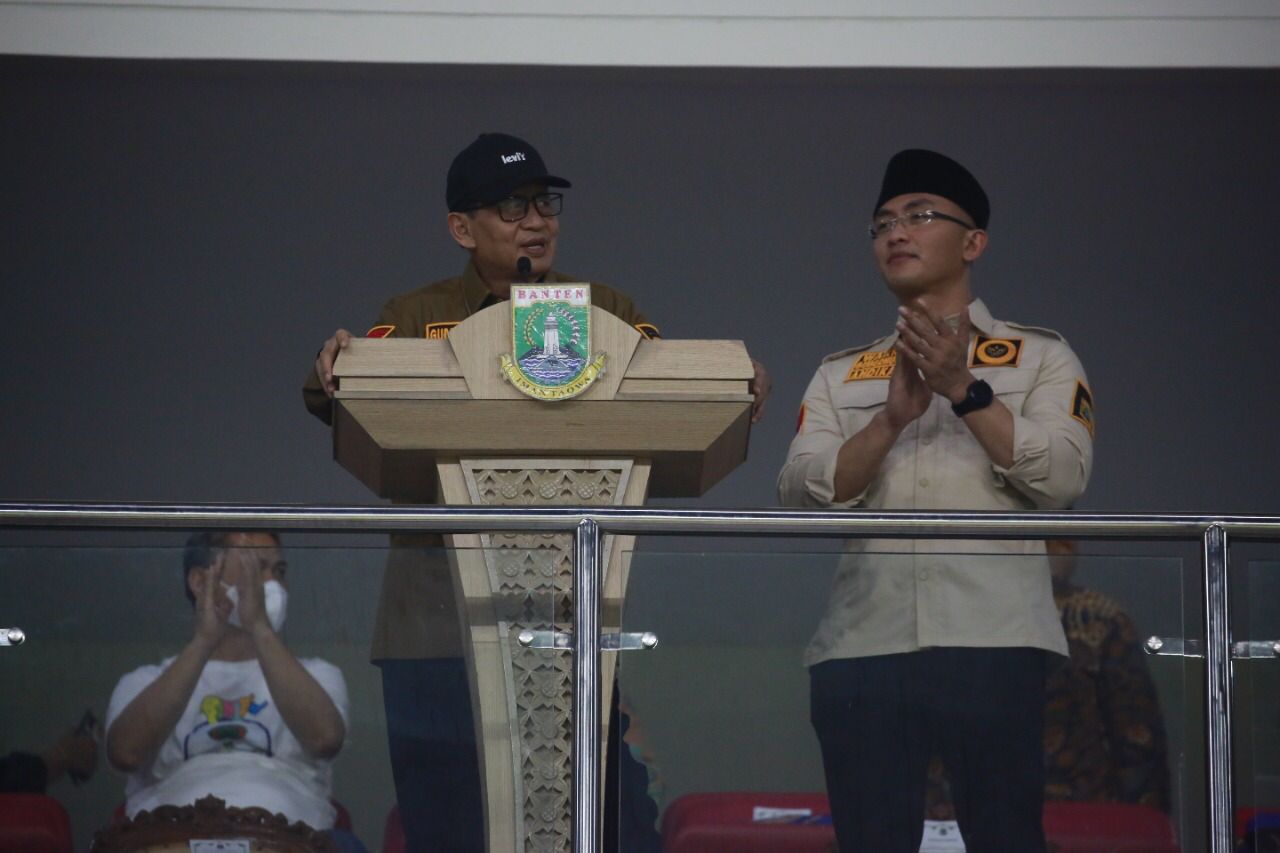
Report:
[[568,400],[604,373],[591,359],[590,284],[512,284],[511,353],[502,374],[536,400]]

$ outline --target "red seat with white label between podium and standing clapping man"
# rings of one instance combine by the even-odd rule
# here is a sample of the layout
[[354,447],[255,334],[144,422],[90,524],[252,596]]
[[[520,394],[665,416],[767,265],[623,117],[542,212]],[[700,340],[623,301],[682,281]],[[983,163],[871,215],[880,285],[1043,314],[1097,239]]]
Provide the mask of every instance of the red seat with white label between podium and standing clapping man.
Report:
[[[756,806],[808,808],[810,818],[828,817],[826,794],[726,792],[685,794],[662,816],[666,853],[827,853],[836,843],[829,820],[765,822],[754,820]],[[800,818],[805,820],[805,818]],[[390,853],[384,850],[384,853]]]

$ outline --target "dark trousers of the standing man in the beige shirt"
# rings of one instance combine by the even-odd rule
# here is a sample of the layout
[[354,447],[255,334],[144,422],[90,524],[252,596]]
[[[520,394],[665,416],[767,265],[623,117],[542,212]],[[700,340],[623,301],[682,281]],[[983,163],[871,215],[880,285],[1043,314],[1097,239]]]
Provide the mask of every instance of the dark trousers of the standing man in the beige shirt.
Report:
[[810,667],[841,853],[918,853],[934,754],[969,853],[1042,853],[1046,666],[1033,648],[929,648]]

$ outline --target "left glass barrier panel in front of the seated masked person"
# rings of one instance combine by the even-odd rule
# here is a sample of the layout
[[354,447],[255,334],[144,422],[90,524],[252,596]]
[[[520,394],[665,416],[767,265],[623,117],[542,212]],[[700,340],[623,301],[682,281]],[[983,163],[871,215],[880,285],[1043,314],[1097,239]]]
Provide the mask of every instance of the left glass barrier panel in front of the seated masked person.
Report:
[[[282,811],[287,803],[298,820],[314,816],[310,825],[335,824],[349,831],[338,836],[344,853],[468,849],[485,833],[485,788],[490,803],[507,808],[509,836],[518,831],[515,821],[531,816],[552,826],[547,831],[571,826],[572,656],[527,649],[515,639],[525,629],[554,635],[571,628],[571,547],[561,553],[571,537],[558,543],[525,534],[475,537],[457,549],[407,537],[388,548],[384,535],[317,544],[335,537],[301,532],[285,533],[279,549],[269,537],[191,547],[186,534],[174,533],[134,533],[128,546],[95,546],[95,535],[84,533],[68,534],[76,544],[59,546],[58,538],[0,539],[0,628],[26,635],[20,646],[0,648],[0,780],[42,789],[51,772],[47,794],[69,815],[74,849],[87,850],[96,833],[113,826],[119,840],[120,821],[140,803],[152,804],[147,797],[193,788],[232,806]],[[241,658],[282,658],[261,651],[268,646],[255,643],[251,631],[223,626],[241,608],[220,584],[210,587],[218,590],[211,626],[197,631],[187,592],[200,592],[214,575],[201,564],[219,566],[220,580],[233,588],[246,573],[283,579],[287,619],[278,637],[307,683],[273,680],[289,686],[279,695],[262,693],[265,672],[247,674]],[[452,597],[454,573],[470,573],[470,629]],[[278,596],[270,584],[264,592],[271,611]],[[209,665],[204,651],[193,652],[207,648],[200,638],[212,638]],[[201,680],[175,688],[177,721],[159,747],[138,745],[129,713],[179,654],[201,661],[195,670]],[[308,693],[314,686],[319,694]],[[340,744],[325,726],[330,702],[346,707]],[[481,710],[472,712],[474,704]],[[123,725],[113,727],[110,752],[134,767],[132,775],[109,762],[102,738],[109,724]],[[96,751],[92,740],[74,736],[78,727],[97,739]],[[477,730],[488,749],[477,748]],[[332,763],[316,757],[339,747]],[[503,754],[504,765],[494,760]],[[280,770],[284,763],[288,771]],[[223,781],[210,781],[215,770]],[[326,795],[317,800],[317,793]],[[431,826],[471,841],[429,848],[406,840],[436,831]]]

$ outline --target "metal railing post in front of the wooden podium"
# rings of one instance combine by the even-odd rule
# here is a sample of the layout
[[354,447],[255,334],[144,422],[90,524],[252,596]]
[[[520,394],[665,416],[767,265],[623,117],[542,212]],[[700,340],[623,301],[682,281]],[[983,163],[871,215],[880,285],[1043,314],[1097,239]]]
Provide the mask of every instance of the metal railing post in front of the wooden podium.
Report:
[[600,528],[573,538],[573,853],[600,849]]

